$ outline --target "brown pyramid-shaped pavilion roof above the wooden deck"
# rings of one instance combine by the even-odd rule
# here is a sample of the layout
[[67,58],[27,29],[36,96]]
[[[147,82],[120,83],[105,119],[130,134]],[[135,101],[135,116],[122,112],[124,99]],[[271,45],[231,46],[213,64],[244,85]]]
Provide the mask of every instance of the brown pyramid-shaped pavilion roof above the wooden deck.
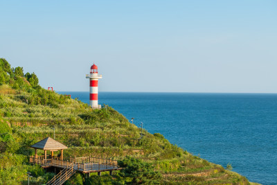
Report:
[[49,136],[46,139],[43,139],[42,141],[39,141],[30,147],[42,150],[61,150],[67,148],[67,146],[64,146],[62,143],[55,141]]

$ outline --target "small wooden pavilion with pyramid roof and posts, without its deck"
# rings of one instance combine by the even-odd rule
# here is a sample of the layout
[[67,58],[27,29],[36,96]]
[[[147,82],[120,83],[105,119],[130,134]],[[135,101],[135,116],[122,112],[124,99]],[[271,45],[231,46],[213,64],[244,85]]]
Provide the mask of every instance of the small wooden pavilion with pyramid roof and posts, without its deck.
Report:
[[51,158],[53,158],[55,151],[61,150],[60,160],[63,160],[63,151],[67,148],[67,146],[64,146],[62,143],[55,141],[49,136],[30,147],[35,148],[35,159],[37,159],[37,149],[44,150],[44,159],[47,159],[47,150],[51,151]]

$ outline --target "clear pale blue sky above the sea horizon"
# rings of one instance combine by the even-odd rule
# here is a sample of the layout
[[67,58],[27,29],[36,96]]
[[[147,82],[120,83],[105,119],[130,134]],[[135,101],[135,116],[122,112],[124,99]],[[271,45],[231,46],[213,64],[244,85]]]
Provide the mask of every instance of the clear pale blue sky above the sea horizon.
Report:
[[0,58],[55,91],[277,93],[277,1],[2,1]]

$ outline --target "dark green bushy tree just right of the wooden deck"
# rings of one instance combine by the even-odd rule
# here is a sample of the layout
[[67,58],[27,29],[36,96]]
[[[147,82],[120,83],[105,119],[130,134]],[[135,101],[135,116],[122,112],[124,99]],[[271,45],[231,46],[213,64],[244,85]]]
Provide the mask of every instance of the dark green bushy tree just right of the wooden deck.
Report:
[[134,157],[125,157],[118,161],[121,177],[129,177],[132,179],[131,184],[159,184],[161,173],[154,171],[154,166],[150,163],[135,159]]

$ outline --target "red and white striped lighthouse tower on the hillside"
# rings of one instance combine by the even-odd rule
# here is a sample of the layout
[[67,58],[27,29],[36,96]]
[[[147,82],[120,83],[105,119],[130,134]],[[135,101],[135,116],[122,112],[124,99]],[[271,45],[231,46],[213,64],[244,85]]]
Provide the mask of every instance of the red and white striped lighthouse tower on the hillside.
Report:
[[102,78],[102,75],[98,75],[96,64],[91,66],[91,73],[86,75],[86,78],[89,78],[89,105],[93,109],[100,109],[101,105],[98,105],[98,79]]

